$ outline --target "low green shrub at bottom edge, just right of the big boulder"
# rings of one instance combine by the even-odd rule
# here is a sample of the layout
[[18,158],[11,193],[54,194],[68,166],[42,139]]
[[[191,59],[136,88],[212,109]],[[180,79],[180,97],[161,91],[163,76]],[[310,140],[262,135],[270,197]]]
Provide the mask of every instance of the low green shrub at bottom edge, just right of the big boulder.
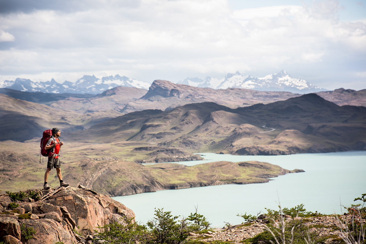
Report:
[[145,242],[147,237],[145,225],[137,224],[132,218],[124,217],[121,220],[123,224],[113,222],[100,227],[104,231],[97,233],[96,236],[108,244]]

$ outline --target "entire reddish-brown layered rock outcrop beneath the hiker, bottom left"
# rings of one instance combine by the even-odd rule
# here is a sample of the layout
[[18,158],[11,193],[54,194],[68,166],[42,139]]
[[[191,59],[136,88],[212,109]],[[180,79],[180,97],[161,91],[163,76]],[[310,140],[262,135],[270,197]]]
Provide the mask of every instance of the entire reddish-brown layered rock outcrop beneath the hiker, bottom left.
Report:
[[[78,243],[92,236],[98,226],[135,214],[109,196],[79,185],[57,190],[34,190],[41,199],[34,202],[26,197],[12,202],[8,194],[0,195],[0,237],[9,243],[46,244],[58,241]],[[11,204],[12,203],[12,204]],[[18,206],[11,210],[11,206]],[[27,233],[33,232],[33,238]],[[79,236],[79,234],[81,234]],[[0,240],[1,241],[1,240]]]

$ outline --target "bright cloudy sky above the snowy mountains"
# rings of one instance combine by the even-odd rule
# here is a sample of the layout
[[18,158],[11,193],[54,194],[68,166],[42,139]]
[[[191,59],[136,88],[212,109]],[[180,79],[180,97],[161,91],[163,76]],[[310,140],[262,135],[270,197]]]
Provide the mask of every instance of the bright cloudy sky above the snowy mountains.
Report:
[[0,0],[0,82],[280,70],[366,89],[366,0]]

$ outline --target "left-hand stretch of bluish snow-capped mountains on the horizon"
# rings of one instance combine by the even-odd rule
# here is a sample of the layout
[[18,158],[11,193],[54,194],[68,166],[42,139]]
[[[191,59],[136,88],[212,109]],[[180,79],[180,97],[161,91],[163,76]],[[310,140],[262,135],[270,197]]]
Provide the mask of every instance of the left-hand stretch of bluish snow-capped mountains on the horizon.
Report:
[[15,81],[5,80],[0,82],[0,88],[9,88],[18,91],[28,92],[44,92],[44,93],[90,93],[99,94],[105,90],[112,89],[117,86],[135,87],[148,90],[150,84],[147,82],[130,79],[126,76],[105,76],[102,79],[96,78],[94,75],[84,75],[75,83],[65,81],[60,84],[51,79],[47,82],[34,82],[30,79],[16,78]]

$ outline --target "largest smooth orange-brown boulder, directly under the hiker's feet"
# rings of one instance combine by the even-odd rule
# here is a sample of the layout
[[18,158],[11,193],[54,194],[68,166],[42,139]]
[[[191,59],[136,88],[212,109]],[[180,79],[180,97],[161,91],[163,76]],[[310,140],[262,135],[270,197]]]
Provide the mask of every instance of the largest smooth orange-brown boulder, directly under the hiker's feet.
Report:
[[[98,194],[82,186],[79,187],[62,187],[43,196],[41,202],[52,204],[53,207],[65,206],[71,218],[75,220],[75,229],[83,235],[92,234],[96,232],[98,226],[109,224],[111,221],[119,221],[124,216],[135,217],[132,210],[109,196]],[[42,204],[40,209],[43,212],[45,209],[53,210],[53,207]],[[64,214],[64,219],[66,217]]]

